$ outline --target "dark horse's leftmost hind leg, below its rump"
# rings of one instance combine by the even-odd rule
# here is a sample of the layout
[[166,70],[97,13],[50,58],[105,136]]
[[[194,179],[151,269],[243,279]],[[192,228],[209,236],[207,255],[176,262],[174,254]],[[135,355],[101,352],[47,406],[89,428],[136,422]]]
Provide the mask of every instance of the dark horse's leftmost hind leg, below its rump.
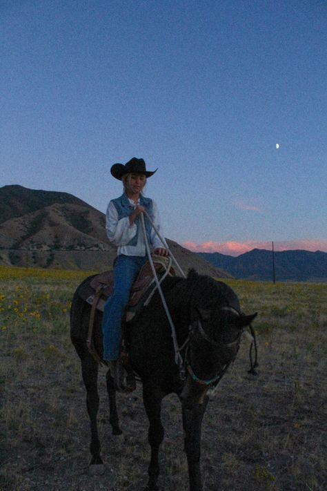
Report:
[[97,412],[99,409],[99,394],[97,389],[98,364],[90,354],[81,359],[83,382],[86,387],[86,406],[91,426],[90,452],[92,459],[90,465],[103,464],[100,452],[101,446],[97,428]]

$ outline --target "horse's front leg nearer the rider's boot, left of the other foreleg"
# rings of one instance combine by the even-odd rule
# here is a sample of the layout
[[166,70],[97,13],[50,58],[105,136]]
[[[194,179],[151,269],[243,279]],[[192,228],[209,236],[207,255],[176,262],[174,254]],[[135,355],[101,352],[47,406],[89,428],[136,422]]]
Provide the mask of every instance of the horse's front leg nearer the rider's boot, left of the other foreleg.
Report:
[[151,459],[148,467],[149,481],[146,490],[156,491],[159,476],[159,447],[164,439],[164,427],[161,424],[162,394],[156,389],[148,389],[143,384],[143,403],[149,419],[148,441],[151,447]]

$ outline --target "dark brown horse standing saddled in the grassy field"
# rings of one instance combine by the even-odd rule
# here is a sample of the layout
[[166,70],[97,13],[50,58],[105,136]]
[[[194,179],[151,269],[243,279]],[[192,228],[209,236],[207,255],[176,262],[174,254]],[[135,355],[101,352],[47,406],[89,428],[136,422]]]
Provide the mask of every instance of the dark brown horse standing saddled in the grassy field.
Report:
[[[86,338],[90,305],[81,300],[79,285],[72,300],[71,338],[81,358],[83,381],[91,424],[91,464],[100,465],[101,447],[97,431],[98,364],[88,352]],[[175,363],[175,350],[166,313],[158,293],[141,314],[126,327],[130,361],[143,385],[143,403],[149,419],[148,441],[151,459],[147,490],[155,491],[159,476],[158,453],[164,439],[161,401],[175,392],[181,401],[185,432],[184,448],[188,460],[190,491],[201,491],[201,421],[208,403],[208,389],[217,385],[228,365],[235,359],[244,328],[256,314],[241,313],[235,292],[223,282],[190,271],[188,278],[166,278],[162,289],[175,325],[177,341],[184,360],[186,376]],[[102,354],[101,314],[95,316],[93,341]],[[116,407],[115,386],[107,373],[110,424],[113,434],[121,434]]]

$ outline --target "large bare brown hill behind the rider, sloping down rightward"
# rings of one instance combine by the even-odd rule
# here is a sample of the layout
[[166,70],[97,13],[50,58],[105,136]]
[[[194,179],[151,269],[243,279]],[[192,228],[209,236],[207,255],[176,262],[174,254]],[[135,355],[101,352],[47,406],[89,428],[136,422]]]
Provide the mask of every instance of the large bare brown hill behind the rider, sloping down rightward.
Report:
[[[104,213],[68,193],[3,186],[0,264],[105,271],[116,256],[105,224]],[[194,267],[201,274],[230,277],[177,242],[168,244],[185,272]]]

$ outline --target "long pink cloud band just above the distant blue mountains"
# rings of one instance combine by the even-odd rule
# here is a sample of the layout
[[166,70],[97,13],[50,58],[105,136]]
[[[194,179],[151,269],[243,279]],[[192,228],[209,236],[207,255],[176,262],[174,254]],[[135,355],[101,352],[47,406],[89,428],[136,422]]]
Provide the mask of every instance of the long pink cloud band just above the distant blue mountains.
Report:
[[[183,242],[186,249],[194,252],[220,252],[228,254],[228,256],[239,256],[252,249],[271,249],[271,241],[246,240],[244,242],[215,242],[208,240],[207,242]],[[289,251],[294,249],[304,249],[304,251],[325,251],[327,252],[327,240],[324,239],[307,239],[307,240],[284,240],[274,241],[275,251]]]

